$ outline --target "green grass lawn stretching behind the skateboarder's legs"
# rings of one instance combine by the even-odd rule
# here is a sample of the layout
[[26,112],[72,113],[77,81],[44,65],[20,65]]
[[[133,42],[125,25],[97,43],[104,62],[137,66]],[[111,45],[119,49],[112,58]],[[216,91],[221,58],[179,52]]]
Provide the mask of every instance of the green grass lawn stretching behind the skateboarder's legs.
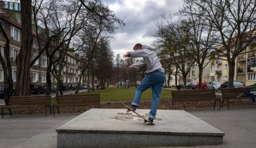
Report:
[[[106,89],[96,90],[90,93],[100,93],[100,102],[132,101],[135,94],[135,87],[130,87],[129,89],[125,89],[125,87],[107,87]],[[87,94],[87,92],[80,94]],[[160,99],[171,99],[170,89],[162,89]],[[144,91],[141,100],[152,100],[152,90],[148,89]]]

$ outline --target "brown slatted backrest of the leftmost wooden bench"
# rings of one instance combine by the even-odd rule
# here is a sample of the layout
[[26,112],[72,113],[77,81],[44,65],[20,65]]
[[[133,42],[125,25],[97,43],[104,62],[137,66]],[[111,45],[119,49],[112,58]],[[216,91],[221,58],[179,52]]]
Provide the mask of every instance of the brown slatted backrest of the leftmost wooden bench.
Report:
[[9,106],[51,106],[51,96],[11,96]]

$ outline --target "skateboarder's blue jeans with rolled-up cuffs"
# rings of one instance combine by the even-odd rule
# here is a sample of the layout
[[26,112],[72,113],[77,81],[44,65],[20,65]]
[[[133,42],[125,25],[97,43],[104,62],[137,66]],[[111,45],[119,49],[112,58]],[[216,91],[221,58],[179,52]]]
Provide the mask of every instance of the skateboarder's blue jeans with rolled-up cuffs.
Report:
[[149,87],[152,87],[152,102],[149,117],[153,119],[156,118],[156,110],[158,109],[158,102],[164,85],[164,80],[165,74],[162,72],[154,71],[152,73],[147,73],[146,77],[144,77],[139,86],[137,86],[131,105],[139,106],[142,92],[146,91]]

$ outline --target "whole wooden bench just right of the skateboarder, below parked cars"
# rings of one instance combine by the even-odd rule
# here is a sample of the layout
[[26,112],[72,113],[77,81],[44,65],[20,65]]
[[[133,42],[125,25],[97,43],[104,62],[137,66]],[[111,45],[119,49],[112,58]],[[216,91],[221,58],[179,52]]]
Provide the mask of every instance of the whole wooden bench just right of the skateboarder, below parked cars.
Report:
[[216,98],[214,89],[184,89],[172,91],[172,110],[176,107],[176,102],[197,102],[214,100],[214,108],[216,102],[220,102],[220,98]]

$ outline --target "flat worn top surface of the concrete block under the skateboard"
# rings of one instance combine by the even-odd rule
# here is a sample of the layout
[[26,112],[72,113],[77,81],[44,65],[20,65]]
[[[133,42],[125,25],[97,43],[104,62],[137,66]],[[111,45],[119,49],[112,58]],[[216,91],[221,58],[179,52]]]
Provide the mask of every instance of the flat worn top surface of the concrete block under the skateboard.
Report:
[[[148,118],[150,110],[136,110]],[[138,133],[160,135],[209,135],[224,133],[183,110],[158,110],[155,125],[143,124],[143,119],[125,109],[93,108],[59,126],[57,132]]]

